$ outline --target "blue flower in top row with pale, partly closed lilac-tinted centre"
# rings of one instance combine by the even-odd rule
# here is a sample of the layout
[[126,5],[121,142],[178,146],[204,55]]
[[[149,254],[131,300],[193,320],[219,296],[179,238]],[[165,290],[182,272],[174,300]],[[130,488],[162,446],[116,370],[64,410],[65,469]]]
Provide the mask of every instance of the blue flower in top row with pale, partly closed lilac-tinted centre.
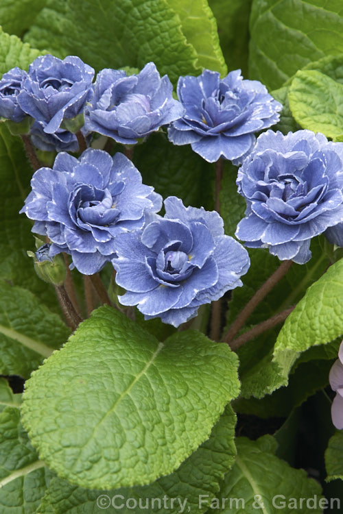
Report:
[[97,75],[91,106],[85,110],[85,127],[133,145],[182,116],[180,102],[171,96],[173,87],[167,75],[160,77],[153,62],[137,75],[104,69]]

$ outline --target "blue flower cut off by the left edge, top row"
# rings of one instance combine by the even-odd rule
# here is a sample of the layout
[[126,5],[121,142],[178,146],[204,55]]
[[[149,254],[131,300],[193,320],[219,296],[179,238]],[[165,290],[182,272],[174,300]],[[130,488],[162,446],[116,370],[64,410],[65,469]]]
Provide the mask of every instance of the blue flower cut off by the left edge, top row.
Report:
[[0,117],[16,123],[25,118],[26,114],[18,103],[18,95],[26,76],[26,71],[20,68],[12,68],[3,74],[0,80]]

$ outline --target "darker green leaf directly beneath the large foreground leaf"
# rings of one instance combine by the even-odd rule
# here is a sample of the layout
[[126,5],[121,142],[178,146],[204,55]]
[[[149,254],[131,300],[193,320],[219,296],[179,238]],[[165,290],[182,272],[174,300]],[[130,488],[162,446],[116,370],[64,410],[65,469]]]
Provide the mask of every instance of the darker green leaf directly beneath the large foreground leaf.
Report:
[[[137,507],[134,509],[135,514],[143,514],[146,511],[158,514],[176,514],[180,513],[180,506],[184,504],[186,505],[185,512],[202,513],[204,509],[199,509],[199,495],[207,494],[214,498],[220,489],[220,480],[235,461],[236,449],[233,443],[235,419],[232,408],[227,406],[224,414],[213,427],[210,438],[202,443],[200,448],[191,454],[176,472],[158,478],[151,485],[113,491],[92,491],[71,485],[60,478],[54,478],[40,504],[39,513],[85,514],[98,512],[95,502],[99,496],[103,497],[104,504],[108,503],[108,498],[113,500],[116,497],[113,502],[117,505],[123,504],[122,509],[117,507],[115,509],[121,514],[132,512],[132,509],[126,508],[128,498],[132,498],[132,502],[137,502]],[[163,500],[164,498],[167,500]],[[174,507],[171,506],[172,498],[174,498]],[[143,500],[141,508],[139,506],[140,499],[141,502]],[[152,501],[153,499],[154,501]],[[129,502],[129,506],[132,505],[132,502]],[[147,509],[145,509],[145,504],[147,504]]]

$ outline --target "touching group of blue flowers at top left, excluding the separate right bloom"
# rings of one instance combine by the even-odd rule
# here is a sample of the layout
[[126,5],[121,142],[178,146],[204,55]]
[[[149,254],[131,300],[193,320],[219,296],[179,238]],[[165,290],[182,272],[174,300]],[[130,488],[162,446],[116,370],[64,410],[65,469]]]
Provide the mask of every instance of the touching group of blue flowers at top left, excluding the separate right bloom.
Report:
[[[40,56],[29,71],[14,68],[0,80],[0,116],[14,122],[31,117],[32,143],[45,151],[78,151],[74,132],[104,134],[132,145],[182,116],[172,85],[149,62],[137,75],[94,70],[75,56]],[[71,121],[76,130],[71,132]],[[68,123],[69,122],[69,123]]]

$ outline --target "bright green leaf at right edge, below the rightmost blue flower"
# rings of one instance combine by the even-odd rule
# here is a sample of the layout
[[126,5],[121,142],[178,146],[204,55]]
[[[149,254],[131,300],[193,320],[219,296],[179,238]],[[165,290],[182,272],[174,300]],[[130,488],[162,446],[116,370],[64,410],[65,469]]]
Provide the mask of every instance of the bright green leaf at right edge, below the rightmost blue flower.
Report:
[[307,290],[286,319],[276,341],[274,362],[286,376],[309,347],[324,345],[343,334],[343,259]]

